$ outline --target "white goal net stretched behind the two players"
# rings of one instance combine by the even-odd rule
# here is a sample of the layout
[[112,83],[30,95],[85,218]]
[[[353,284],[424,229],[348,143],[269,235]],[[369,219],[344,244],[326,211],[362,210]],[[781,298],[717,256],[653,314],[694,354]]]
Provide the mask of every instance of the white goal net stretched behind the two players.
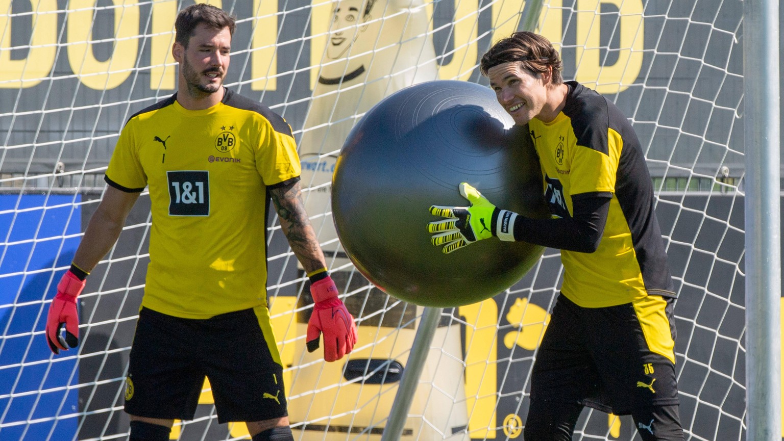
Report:
[[[148,262],[146,192],[80,296],[79,348],[53,356],[43,329],[118,133],[176,88],[173,21],[190,3],[0,0],[0,439],[128,436],[122,403]],[[510,0],[210,3],[238,18],[227,85],[295,132],[308,212],[358,320],[347,359],[325,363],[305,350],[306,278],[272,222],[267,286],[295,438],[378,440],[423,309],[372,287],[346,258],[332,224],[332,168],[350,128],[384,96],[436,79],[486,85],[479,57],[521,28],[527,9]],[[617,103],[644,146],[679,292],[687,439],[746,439],[742,6],[550,0],[534,20],[561,49],[564,78]],[[560,284],[560,259],[548,250],[510,290],[445,310],[401,439],[521,439]],[[199,403],[172,439],[249,439],[245,425],[217,423],[209,384]],[[591,410],[575,432],[635,437],[630,418]]]

